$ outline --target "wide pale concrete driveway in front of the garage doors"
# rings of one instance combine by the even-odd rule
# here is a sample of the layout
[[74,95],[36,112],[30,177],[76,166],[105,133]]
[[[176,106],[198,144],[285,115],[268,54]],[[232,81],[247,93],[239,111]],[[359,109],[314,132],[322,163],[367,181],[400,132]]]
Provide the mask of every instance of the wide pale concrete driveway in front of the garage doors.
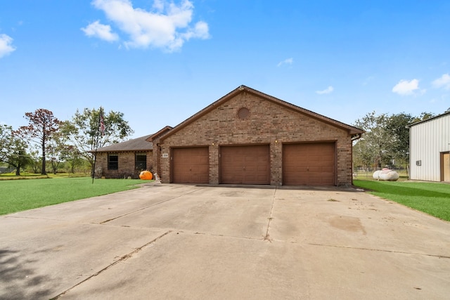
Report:
[[143,188],[0,217],[0,299],[449,299],[450,223],[353,189]]

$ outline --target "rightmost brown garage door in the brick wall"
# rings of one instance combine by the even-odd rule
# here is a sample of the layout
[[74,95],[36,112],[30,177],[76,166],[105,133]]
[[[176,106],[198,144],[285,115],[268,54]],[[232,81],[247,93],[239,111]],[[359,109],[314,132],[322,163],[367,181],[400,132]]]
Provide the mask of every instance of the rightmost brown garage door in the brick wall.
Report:
[[283,185],[335,185],[335,143],[283,145]]

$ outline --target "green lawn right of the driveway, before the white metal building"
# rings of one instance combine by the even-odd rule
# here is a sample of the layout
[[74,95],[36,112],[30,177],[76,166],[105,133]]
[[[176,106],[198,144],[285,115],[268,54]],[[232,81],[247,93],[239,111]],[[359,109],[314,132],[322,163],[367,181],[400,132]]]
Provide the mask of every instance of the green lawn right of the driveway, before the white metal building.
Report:
[[450,221],[450,185],[410,181],[361,181],[353,184],[368,189],[368,193],[423,211]]

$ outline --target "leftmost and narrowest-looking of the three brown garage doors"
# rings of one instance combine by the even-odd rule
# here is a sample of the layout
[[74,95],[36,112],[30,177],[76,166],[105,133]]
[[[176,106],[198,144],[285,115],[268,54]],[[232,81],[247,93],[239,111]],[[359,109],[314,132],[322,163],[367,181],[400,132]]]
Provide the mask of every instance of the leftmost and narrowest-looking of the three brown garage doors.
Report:
[[172,182],[210,183],[207,147],[172,148]]

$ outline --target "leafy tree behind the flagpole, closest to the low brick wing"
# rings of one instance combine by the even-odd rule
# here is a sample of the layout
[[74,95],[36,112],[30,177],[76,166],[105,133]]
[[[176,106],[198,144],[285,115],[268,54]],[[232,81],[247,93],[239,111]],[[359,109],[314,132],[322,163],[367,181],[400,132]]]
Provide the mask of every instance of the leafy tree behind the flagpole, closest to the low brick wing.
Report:
[[77,153],[94,167],[95,150],[105,145],[119,143],[134,131],[124,120],[122,112],[113,112],[103,115],[104,130],[100,130],[100,117],[103,108],[84,108],[77,112],[71,121],[64,122],[62,128],[74,145]]

